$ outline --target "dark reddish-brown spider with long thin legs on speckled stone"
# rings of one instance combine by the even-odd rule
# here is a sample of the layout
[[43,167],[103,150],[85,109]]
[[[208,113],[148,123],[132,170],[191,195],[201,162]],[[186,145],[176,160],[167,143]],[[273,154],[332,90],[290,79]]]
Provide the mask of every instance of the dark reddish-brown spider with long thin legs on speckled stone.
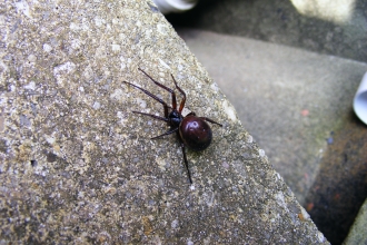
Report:
[[150,91],[148,91],[143,88],[140,88],[139,86],[132,85],[128,81],[123,81],[125,84],[130,85],[130,86],[143,91],[146,95],[148,95],[149,97],[151,97],[155,100],[157,100],[158,102],[160,102],[163,106],[165,117],[156,116],[156,115],[152,115],[152,114],[135,111],[135,110],[132,110],[132,112],[149,116],[149,117],[152,117],[155,119],[166,121],[167,125],[170,126],[170,129],[168,131],[166,131],[162,135],[152,137],[151,139],[157,139],[157,138],[160,138],[162,136],[177,133],[177,136],[180,140],[182,154],[184,154],[184,161],[185,161],[185,166],[186,166],[186,169],[187,169],[187,175],[189,177],[190,184],[192,184],[191,174],[190,174],[189,165],[188,165],[188,161],[187,161],[186,149],[185,148],[188,147],[188,148],[190,148],[195,151],[200,151],[200,150],[206,149],[210,145],[211,138],[212,138],[211,128],[207,124],[207,121],[209,121],[211,124],[219,125],[220,127],[222,127],[222,125],[218,124],[218,122],[216,122],[216,121],[214,121],[214,120],[211,120],[210,118],[207,118],[207,117],[197,117],[196,114],[192,112],[192,111],[189,112],[188,115],[186,115],[185,117],[182,116],[181,112],[182,112],[182,109],[184,109],[184,106],[185,106],[185,102],[186,102],[186,94],[180,87],[178,87],[178,85],[177,85],[177,82],[173,78],[173,75],[171,75],[171,77],[172,77],[172,80],[175,82],[175,86],[180,91],[180,94],[182,95],[182,100],[181,100],[180,107],[178,109],[177,109],[175,91],[172,89],[166,87],[165,85],[156,81],[155,79],[152,79],[142,69],[140,69],[140,68],[138,68],[138,69],[141,72],[143,72],[150,80],[152,80],[157,86],[161,87],[162,89],[165,89],[165,90],[167,90],[171,94],[172,105],[168,106],[167,102],[165,102],[162,99],[158,98],[157,96],[155,96]]

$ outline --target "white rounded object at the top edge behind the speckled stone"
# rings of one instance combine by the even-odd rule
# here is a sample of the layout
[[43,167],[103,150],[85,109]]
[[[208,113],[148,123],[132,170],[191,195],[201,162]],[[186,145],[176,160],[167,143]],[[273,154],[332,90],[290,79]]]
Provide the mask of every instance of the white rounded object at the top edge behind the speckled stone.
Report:
[[192,9],[197,0],[153,0],[159,11],[163,14],[169,12],[182,12]]

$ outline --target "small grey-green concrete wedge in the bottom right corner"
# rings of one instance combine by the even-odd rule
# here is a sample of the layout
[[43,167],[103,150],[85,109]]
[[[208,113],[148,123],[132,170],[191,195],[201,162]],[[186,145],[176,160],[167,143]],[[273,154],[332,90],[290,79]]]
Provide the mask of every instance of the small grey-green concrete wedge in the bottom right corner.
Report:
[[360,207],[358,217],[351,226],[348,237],[345,239],[345,245],[367,244],[367,199]]

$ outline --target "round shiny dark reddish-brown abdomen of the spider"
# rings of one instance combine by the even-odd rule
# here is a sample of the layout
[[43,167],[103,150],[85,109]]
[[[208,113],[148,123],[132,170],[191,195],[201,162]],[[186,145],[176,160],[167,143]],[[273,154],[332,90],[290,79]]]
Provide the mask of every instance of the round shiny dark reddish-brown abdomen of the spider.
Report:
[[210,126],[196,116],[187,116],[182,119],[179,134],[184,144],[197,151],[206,149],[212,138]]

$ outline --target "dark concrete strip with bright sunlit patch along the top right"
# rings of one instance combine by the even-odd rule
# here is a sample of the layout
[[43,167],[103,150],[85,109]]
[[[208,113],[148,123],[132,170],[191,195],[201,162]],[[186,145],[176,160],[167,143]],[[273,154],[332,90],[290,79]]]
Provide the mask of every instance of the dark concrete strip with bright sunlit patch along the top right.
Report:
[[201,0],[192,11],[168,18],[181,27],[367,62],[366,0]]

